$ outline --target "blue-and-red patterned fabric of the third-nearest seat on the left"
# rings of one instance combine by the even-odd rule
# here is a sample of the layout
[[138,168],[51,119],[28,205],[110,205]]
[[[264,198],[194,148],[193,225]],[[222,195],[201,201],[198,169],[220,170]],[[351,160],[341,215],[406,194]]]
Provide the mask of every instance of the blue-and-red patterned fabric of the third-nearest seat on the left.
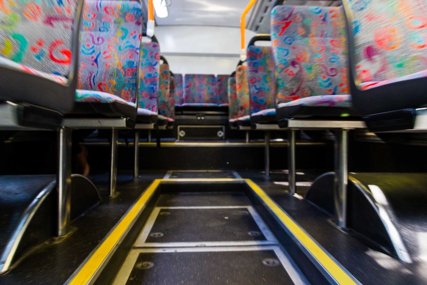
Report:
[[[141,43],[138,72],[138,109],[147,109],[158,114],[160,72],[160,47],[158,43]],[[142,112],[139,113],[143,114]]]

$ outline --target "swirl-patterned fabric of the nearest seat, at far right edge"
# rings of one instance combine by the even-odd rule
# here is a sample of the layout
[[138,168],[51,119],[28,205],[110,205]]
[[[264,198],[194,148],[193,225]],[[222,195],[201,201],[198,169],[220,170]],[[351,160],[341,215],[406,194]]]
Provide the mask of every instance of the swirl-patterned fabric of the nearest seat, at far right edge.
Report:
[[363,89],[390,83],[375,82],[413,73],[426,76],[422,72],[427,69],[425,1],[343,0],[343,3],[353,33],[358,83]]

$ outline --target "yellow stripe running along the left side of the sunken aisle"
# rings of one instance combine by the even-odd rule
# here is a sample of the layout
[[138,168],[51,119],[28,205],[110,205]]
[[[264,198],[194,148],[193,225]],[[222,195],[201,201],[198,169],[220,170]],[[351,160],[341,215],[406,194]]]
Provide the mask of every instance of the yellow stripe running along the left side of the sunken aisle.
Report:
[[162,179],[156,179],[153,183],[145,190],[141,198],[134,204],[134,206],[129,210],[126,216],[119,222],[119,224],[112,230],[112,232],[107,236],[104,242],[98,247],[94,252],[91,258],[86,262],[86,264],[80,269],[76,276],[69,283],[70,285],[84,285],[89,284],[98,268],[102,265],[104,260],[107,258],[108,254],[116,245],[117,241],[123,235],[127,228],[132,224],[132,221],[138,215],[138,213],[143,209],[151,196],[159,186]]

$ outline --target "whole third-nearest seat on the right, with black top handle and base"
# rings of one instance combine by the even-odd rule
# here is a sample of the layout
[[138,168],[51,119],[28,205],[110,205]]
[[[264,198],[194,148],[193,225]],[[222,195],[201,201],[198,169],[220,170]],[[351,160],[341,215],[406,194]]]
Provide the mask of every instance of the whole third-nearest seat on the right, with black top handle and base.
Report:
[[276,123],[276,80],[273,55],[270,46],[256,46],[256,42],[259,41],[270,42],[270,35],[256,35],[248,44],[246,61],[251,124]]

